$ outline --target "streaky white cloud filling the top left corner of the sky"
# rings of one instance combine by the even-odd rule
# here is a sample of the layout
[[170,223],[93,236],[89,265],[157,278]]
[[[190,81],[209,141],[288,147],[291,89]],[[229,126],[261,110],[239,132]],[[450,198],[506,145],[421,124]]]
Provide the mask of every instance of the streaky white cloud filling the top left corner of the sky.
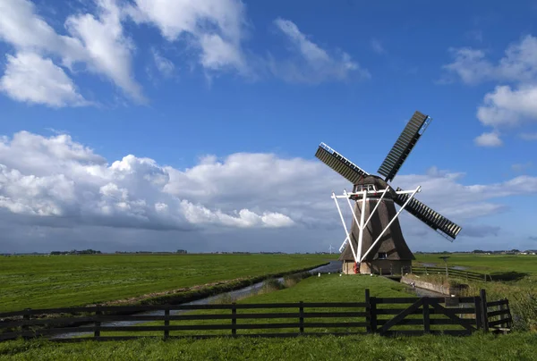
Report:
[[[133,45],[132,40],[124,37],[120,9],[113,0],[98,0],[97,3],[97,14],[81,13],[66,19],[64,27],[70,34],[66,36],[56,33],[39,17],[30,1],[6,0],[0,4],[3,14],[0,39],[11,44],[18,53],[30,52],[49,58],[58,69],[61,65],[76,72],[74,65],[81,64],[85,67],[83,70],[105,75],[129,97],[144,102],[141,87],[133,80]],[[45,81],[45,75],[40,75],[39,80]],[[47,82],[55,79],[57,77]]]

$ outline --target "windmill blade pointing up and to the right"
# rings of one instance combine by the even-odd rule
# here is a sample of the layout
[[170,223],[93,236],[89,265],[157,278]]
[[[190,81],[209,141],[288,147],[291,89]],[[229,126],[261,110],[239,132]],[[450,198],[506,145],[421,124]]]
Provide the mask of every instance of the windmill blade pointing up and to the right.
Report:
[[406,123],[405,129],[396,140],[396,144],[391,148],[384,162],[380,164],[379,171],[377,171],[386,177],[384,181],[394,179],[396,173],[399,172],[399,168],[405,163],[406,157],[422,136],[423,131],[427,129],[431,120],[432,118],[429,115],[418,111],[413,113],[412,118]]

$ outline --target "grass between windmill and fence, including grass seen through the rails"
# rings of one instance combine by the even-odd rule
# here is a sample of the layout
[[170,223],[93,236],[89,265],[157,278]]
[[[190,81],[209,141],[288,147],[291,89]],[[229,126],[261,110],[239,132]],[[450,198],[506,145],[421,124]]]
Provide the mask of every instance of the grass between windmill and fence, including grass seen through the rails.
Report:
[[[272,283],[270,281],[268,284]],[[409,298],[414,297],[409,292],[409,288],[404,284],[396,281],[390,281],[384,277],[379,276],[358,276],[358,275],[346,275],[339,277],[337,274],[322,275],[319,277],[310,277],[303,281],[298,282],[295,286],[286,288],[284,290],[277,290],[277,287],[272,287],[272,291],[267,293],[263,292],[257,296],[240,299],[237,304],[265,304],[265,303],[297,303],[303,302],[364,302],[365,290],[370,289],[371,297],[379,298]],[[232,299],[226,299],[224,303],[229,303]],[[409,305],[379,305],[379,308],[404,308]],[[363,312],[364,308],[330,308],[330,307],[308,307],[304,309],[305,312],[342,312],[353,311]],[[298,308],[263,308],[263,309],[237,309],[237,314],[256,314],[256,313],[289,313],[298,312]],[[202,310],[194,311],[190,314],[197,315],[229,315],[229,310]],[[390,315],[379,315],[379,319],[391,318]],[[409,318],[421,318],[422,315],[410,315]],[[431,315],[431,318],[444,318],[442,315]],[[296,323],[297,318],[262,318],[262,319],[239,319],[237,324],[253,324],[253,323]],[[364,323],[364,317],[354,317],[349,319],[348,317],[334,317],[334,318],[307,318],[306,323],[348,323],[359,322]],[[171,321],[170,325],[204,325],[204,324],[226,324],[228,325],[230,320],[196,320],[196,321]],[[145,326],[162,326],[163,321],[155,321],[150,323],[143,323]],[[419,327],[419,326],[418,326]],[[437,326],[435,326],[437,327]],[[439,328],[432,327],[434,330],[463,330],[462,326],[448,325],[439,326]],[[416,329],[416,326],[401,326],[396,325],[393,330],[412,330]],[[340,328],[327,328],[327,327],[315,327],[306,328],[306,332],[365,332],[365,327],[348,327],[343,326]],[[286,332],[298,332],[298,329],[258,329],[258,330],[238,330],[238,334],[256,334],[256,333],[286,333]],[[229,330],[217,330],[217,331],[172,331],[171,336],[192,336],[192,335],[228,335]],[[158,336],[162,337],[163,332],[101,332],[101,336]]]

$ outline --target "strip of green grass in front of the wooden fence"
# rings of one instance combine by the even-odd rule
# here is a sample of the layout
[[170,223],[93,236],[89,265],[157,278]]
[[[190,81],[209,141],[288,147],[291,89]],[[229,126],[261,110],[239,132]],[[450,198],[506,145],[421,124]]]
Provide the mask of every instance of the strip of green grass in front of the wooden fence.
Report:
[[534,360],[531,334],[495,337],[422,336],[388,339],[377,335],[295,339],[129,340],[53,344],[0,343],[9,360]]

